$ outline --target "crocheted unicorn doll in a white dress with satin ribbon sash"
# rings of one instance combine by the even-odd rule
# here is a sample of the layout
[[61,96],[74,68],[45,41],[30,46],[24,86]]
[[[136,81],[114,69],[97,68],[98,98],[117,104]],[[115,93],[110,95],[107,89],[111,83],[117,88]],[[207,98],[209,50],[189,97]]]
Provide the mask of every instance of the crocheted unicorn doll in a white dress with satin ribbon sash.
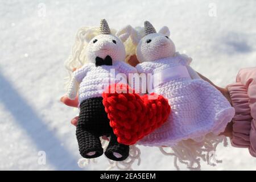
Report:
[[167,98],[172,113],[166,123],[139,144],[175,146],[181,140],[200,142],[209,133],[218,135],[224,131],[234,116],[234,108],[189,66],[191,58],[175,52],[168,27],[157,33],[146,21],[144,31],[146,35],[141,40],[135,34],[131,36],[137,44],[137,71],[154,75],[154,92]]

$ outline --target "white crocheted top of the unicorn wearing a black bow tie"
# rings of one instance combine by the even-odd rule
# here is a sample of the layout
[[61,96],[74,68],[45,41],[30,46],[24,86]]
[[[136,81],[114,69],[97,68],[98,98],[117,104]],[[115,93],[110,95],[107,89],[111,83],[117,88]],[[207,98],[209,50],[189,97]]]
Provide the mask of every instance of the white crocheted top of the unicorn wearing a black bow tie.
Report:
[[111,66],[101,65],[99,67],[96,67],[93,63],[89,63],[77,69],[73,73],[73,76],[76,81],[80,83],[79,104],[88,98],[102,97],[104,89],[108,88],[109,84],[124,81],[123,79],[125,79],[125,77],[116,77],[118,73],[125,74],[125,83],[127,83],[128,74],[137,73],[137,69],[123,61],[113,61],[113,65]]

